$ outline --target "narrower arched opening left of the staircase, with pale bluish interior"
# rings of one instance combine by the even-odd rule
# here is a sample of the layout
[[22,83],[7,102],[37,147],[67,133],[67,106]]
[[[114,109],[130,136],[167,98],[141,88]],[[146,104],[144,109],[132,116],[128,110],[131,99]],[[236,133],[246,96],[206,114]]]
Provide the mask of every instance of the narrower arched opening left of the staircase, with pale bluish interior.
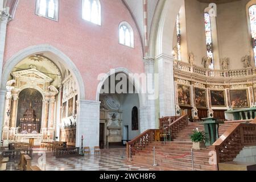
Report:
[[[141,133],[145,118],[138,108],[143,109],[144,95],[138,82],[131,80],[129,76],[131,75],[126,69],[116,69],[115,72],[106,74],[98,85],[97,100],[101,102],[101,148],[124,146]],[[133,122],[137,123],[134,125]]]

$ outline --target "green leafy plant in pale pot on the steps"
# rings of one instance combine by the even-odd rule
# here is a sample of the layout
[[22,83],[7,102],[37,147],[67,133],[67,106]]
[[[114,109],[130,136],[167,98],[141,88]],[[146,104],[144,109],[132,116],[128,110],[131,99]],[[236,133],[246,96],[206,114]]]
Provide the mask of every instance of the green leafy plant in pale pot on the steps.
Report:
[[193,142],[193,149],[201,150],[201,148],[205,148],[205,132],[199,131],[198,129],[193,130],[193,134],[190,136]]

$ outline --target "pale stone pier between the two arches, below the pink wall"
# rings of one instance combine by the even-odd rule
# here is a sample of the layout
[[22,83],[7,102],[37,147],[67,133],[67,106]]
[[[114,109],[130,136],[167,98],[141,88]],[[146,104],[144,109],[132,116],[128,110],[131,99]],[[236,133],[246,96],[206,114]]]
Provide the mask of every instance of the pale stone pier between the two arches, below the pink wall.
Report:
[[90,147],[93,154],[94,147],[99,145],[100,140],[100,102],[80,100],[78,103],[76,147],[81,148],[83,136],[83,146]]

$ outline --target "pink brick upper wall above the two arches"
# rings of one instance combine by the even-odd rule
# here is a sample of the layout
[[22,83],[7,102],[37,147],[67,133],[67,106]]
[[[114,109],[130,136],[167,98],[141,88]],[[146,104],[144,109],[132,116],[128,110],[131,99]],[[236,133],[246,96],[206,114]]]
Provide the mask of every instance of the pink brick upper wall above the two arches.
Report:
[[[35,0],[20,0],[7,27],[4,64],[24,48],[50,44],[75,63],[84,80],[86,100],[95,100],[98,74],[119,67],[144,71],[141,39],[121,0],[101,0],[101,26],[81,19],[80,2],[60,0],[59,22],[55,22],[35,15]],[[118,25],[123,20],[134,29],[134,48],[118,43]]]

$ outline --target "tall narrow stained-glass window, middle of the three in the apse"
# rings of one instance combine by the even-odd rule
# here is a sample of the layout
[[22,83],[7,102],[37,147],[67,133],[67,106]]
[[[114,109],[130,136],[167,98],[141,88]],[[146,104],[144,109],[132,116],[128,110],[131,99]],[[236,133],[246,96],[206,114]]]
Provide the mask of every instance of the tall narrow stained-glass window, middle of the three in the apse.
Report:
[[212,58],[212,64],[209,65],[209,68],[214,69],[212,25],[210,23],[210,15],[208,13],[204,13],[204,24],[205,24],[206,43],[207,43],[207,56]]

